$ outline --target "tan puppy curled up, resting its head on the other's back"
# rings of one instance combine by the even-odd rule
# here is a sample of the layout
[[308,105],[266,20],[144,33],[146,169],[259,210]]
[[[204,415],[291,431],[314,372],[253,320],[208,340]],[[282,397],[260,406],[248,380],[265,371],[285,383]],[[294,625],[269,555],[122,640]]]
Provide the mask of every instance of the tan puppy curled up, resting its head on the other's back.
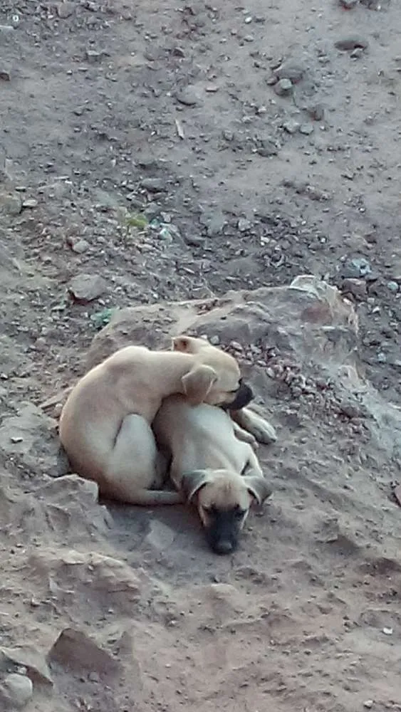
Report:
[[163,398],[181,393],[192,404],[236,407],[251,399],[236,360],[204,340],[192,343],[192,354],[194,341],[177,337],[172,351],[127,346],[73,387],[61,412],[61,443],[103,496],[148,506],[182,501],[178,492],[152,490],[165,474],[150,427]]

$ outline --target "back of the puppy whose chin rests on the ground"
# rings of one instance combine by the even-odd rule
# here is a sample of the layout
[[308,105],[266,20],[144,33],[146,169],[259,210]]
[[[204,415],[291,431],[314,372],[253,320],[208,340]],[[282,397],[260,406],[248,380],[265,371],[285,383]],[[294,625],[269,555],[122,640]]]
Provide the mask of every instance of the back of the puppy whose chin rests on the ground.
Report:
[[193,469],[241,473],[249,457],[249,444],[236,438],[231,418],[216,406],[191,406],[182,396],[170,396],[152,428],[157,443],[171,454],[170,474],[176,485],[183,472]]

